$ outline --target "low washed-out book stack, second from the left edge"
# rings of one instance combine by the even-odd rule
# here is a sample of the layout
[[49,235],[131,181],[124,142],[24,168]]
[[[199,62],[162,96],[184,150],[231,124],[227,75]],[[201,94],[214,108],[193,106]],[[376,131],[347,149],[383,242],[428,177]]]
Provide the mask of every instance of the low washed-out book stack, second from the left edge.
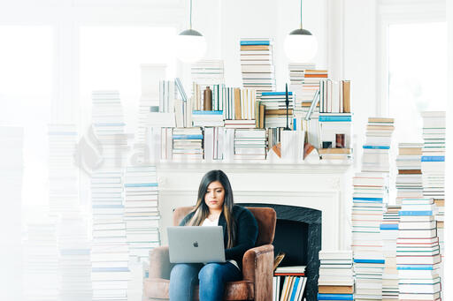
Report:
[[27,222],[24,243],[24,297],[32,300],[60,300],[61,274],[57,219],[47,208],[35,211]]

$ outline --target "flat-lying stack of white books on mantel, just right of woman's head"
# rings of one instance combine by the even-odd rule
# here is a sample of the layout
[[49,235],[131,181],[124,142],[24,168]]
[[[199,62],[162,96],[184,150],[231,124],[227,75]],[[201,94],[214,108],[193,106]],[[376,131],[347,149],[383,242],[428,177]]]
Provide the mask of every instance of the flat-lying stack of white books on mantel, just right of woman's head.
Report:
[[265,130],[235,130],[234,159],[265,160]]

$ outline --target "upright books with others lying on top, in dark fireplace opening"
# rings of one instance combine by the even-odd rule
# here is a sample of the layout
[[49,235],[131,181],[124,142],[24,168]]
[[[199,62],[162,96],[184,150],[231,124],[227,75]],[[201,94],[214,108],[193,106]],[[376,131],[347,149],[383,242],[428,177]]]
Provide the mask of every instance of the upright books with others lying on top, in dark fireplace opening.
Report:
[[273,301],[301,301],[307,284],[305,267],[277,267],[273,273]]

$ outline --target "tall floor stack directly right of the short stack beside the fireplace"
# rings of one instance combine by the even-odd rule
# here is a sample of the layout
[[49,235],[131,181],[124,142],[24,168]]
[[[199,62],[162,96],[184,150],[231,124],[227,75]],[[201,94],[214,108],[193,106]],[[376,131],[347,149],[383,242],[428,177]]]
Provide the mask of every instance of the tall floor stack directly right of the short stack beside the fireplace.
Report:
[[388,197],[388,175],[357,173],[353,177],[352,251],[355,300],[382,298],[384,256],[380,223]]

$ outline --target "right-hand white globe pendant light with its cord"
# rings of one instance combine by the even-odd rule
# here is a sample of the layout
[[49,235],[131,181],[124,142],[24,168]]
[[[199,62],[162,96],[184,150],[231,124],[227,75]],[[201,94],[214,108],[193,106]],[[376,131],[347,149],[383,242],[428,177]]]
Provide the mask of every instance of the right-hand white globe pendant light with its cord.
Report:
[[316,37],[308,30],[302,28],[302,0],[301,27],[287,35],[284,48],[289,60],[295,63],[308,63],[318,50]]

